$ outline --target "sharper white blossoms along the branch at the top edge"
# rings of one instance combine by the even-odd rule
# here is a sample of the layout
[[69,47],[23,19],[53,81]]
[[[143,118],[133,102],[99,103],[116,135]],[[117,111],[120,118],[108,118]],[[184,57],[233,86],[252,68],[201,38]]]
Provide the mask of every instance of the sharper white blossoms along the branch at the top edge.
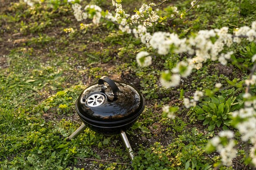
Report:
[[[167,0],[164,0],[164,2]],[[72,2],[69,0],[68,2]],[[99,24],[99,20],[101,17],[108,19],[112,22],[117,22],[119,24],[119,29],[122,32],[131,33],[130,26],[132,24],[140,24],[142,23],[144,26],[153,26],[153,24],[157,24],[161,22],[164,24],[164,19],[160,20],[159,8],[155,3],[142,4],[139,10],[135,10],[135,14],[130,17],[130,14],[126,13],[126,11],[122,8],[121,0],[112,0],[113,6],[115,6],[115,15],[106,11],[106,15],[101,15],[101,8],[97,5],[87,5],[84,10],[80,4],[75,3],[72,4],[72,9],[74,10],[74,16],[77,21],[85,20],[87,18],[93,18],[92,22],[94,24]],[[93,11],[92,11],[93,9]],[[172,14],[171,17],[179,13],[177,7],[171,7]]]

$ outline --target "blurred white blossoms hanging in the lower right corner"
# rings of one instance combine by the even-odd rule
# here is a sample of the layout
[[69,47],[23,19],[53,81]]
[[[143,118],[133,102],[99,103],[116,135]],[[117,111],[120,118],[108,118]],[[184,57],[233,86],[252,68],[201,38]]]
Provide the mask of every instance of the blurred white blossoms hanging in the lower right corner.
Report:
[[[244,142],[250,141],[253,145],[249,150],[249,157],[251,157],[252,163],[256,166],[256,99],[250,97],[251,95],[244,96],[247,99],[244,103],[245,108],[234,111],[232,117],[234,124],[236,124],[235,127],[241,134],[241,140]],[[235,120],[238,119],[239,121],[236,122]],[[234,140],[231,139],[233,136],[233,133],[230,131],[221,131],[219,137],[214,137],[211,140],[211,144],[216,147],[216,150],[218,150],[222,157],[222,163],[227,166],[230,166],[232,159],[236,157],[236,150],[234,149],[236,144]],[[231,139],[226,147],[223,147],[220,143],[222,137]]]

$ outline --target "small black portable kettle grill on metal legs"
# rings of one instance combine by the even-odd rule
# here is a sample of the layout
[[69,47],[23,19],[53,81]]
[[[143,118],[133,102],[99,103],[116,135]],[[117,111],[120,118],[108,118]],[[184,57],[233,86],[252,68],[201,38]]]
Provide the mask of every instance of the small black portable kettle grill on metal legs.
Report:
[[76,112],[84,124],[67,140],[79,135],[86,127],[102,134],[120,134],[133,159],[125,131],[136,122],[144,107],[145,100],[135,87],[103,76],[76,99]]

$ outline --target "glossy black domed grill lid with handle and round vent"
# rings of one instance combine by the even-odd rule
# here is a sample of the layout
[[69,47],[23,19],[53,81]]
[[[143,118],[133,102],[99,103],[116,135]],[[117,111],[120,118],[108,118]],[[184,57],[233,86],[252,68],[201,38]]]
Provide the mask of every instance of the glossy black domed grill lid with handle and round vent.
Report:
[[144,98],[135,87],[106,76],[85,88],[76,100],[76,111],[85,121],[126,121],[140,115],[144,107]]

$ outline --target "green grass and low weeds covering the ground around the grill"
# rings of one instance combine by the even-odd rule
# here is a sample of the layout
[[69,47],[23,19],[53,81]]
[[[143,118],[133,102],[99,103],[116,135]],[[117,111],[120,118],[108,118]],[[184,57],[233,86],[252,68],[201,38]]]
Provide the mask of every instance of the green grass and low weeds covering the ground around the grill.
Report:
[[[129,2],[125,4],[131,10]],[[187,9],[190,2],[177,1],[177,7]],[[104,7],[111,4],[97,3]],[[250,7],[246,5],[249,3]],[[256,20],[255,2],[242,0],[242,4],[240,26],[250,25]],[[227,85],[227,80],[234,78],[239,82],[247,75],[245,70],[208,62],[183,79],[180,86],[166,89],[159,83],[161,71],[173,68],[187,56],[156,55],[152,66],[139,68],[135,55],[146,47],[131,35],[121,34],[116,26],[99,24],[86,32],[66,34],[64,28],[79,30],[80,24],[72,16],[70,5],[55,10],[46,5],[30,8],[24,2],[13,2],[2,8],[1,170],[208,170],[220,160],[218,154],[208,154],[204,147],[221,128],[209,131],[193,108],[182,107],[180,91],[183,89],[187,97],[196,90],[212,89],[217,82]],[[232,31],[229,23],[236,24],[237,15],[225,18],[236,11],[236,1],[202,1],[200,8],[191,11],[185,20],[177,19],[168,27],[156,27],[155,31],[175,31],[182,36],[221,26],[229,26]],[[243,62],[249,63],[246,57]],[[234,71],[227,74],[228,69]],[[81,124],[74,109],[76,97],[103,75],[134,84],[146,99],[144,113],[127,132],[135,152],[132,163],[118,135],[101,135],[87,128],[76,139],[64,140]],[[161,108],[166,104],[180,106],[176,119],[162,117]],[[160,132],[152,130],[157,127],[155,123],[161,127]],[[243,164],[244,152],[239,154],[235,166],[249,168]]]

